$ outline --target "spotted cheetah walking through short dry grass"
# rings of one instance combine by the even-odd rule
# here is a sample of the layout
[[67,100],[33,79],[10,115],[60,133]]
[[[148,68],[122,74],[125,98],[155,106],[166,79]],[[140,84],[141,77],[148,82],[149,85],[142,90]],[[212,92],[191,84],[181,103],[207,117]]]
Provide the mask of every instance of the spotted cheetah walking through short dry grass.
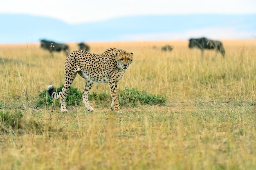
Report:
[[117,99],[117,82],[122,79],[124,72],[132,63],[133,52],[109,48],[102,54],[92,54],[84,50],[75,50],[68,55],[65,61],[65,82],[60,92],[55,92],[52,85],[47,87],[48,94],[60,98],[61,112],[67,112],[66,94],[78,73],[85,79],[83,103],[89,112],[93,108],[89,103],[88,94],[94,83],[108,83],[112,97],[111,110],[122,113]]

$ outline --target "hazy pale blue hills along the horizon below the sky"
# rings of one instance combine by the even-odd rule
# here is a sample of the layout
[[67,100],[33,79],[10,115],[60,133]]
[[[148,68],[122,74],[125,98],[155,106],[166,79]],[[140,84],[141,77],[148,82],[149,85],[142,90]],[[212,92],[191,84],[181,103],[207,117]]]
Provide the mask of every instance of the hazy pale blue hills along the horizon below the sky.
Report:
[[206,36],[249,39],[256,34],[252,15],[145,15],[67,24],[33,15],[0,14],[0,43],[177,40]]

